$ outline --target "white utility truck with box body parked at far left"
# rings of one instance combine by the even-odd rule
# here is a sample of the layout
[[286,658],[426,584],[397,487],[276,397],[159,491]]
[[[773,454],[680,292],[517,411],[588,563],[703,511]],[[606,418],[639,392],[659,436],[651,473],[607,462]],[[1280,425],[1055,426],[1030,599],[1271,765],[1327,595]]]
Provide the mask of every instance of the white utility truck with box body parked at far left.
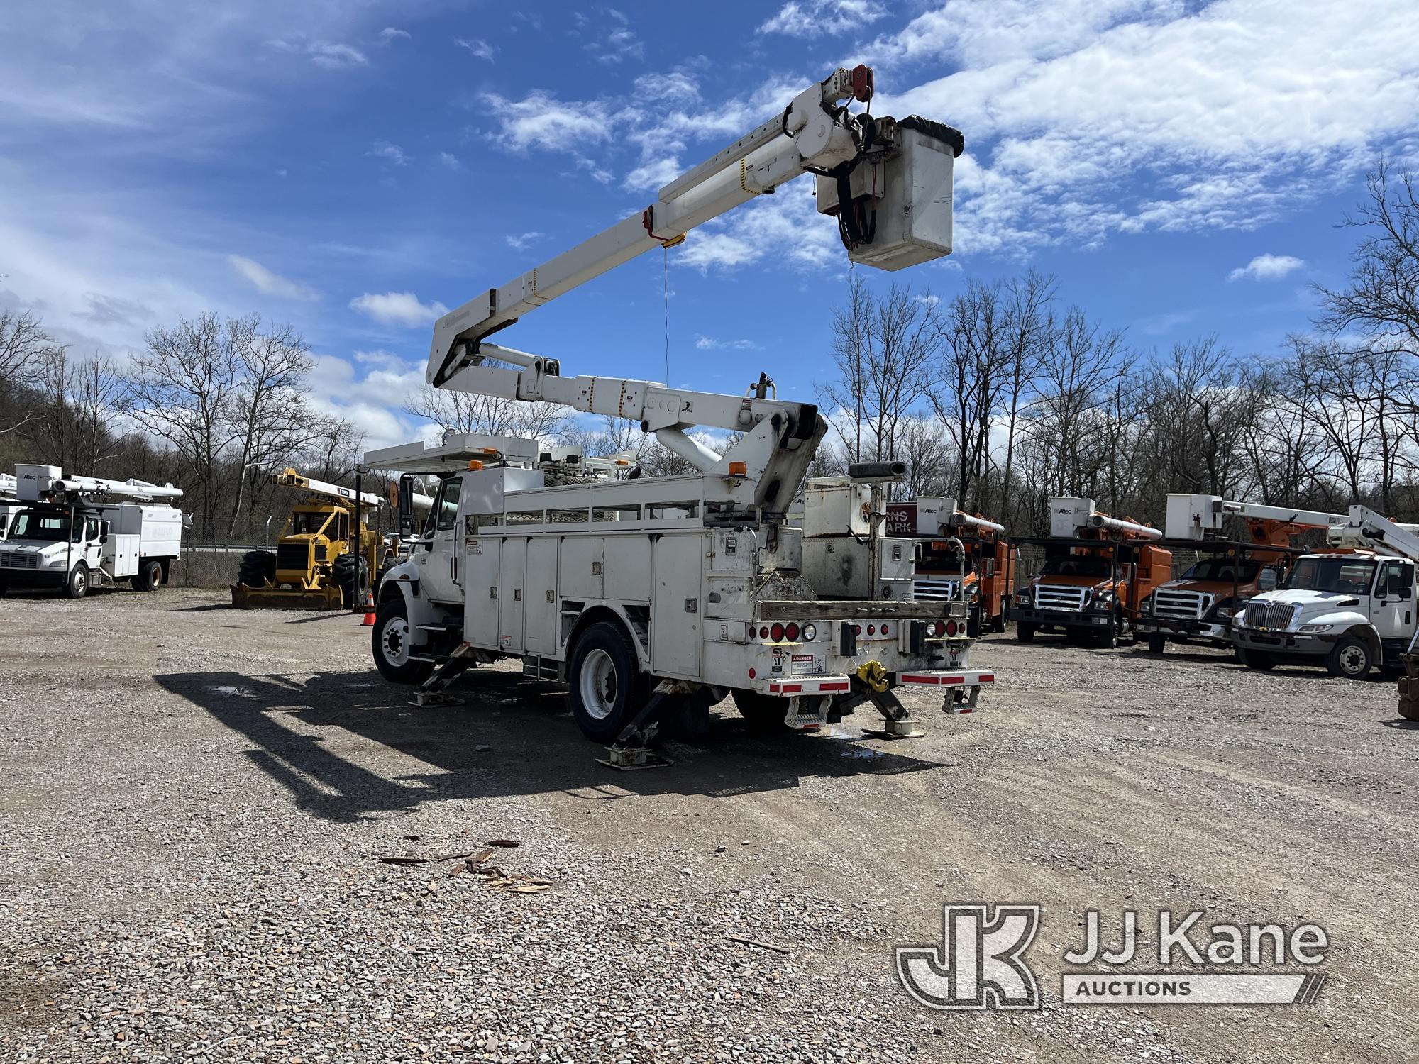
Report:
[[91,587],[129,580],[150,592],[167,583],[182,553],[182,498],[172,484],[64,477],[57,465],[17,465],[20,509],[0,545],[0,592],[53,587],[82,599]]

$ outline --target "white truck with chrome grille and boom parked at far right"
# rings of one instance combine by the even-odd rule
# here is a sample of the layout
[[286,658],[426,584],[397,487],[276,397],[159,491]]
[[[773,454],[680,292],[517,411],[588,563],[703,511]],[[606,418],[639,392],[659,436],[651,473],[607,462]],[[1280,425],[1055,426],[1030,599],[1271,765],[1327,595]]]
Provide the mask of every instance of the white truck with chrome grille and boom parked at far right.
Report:
[[1332,550],[1301,555],[1279,589],[1233,614],[1232,644],[1252,668],[1314,661],[1358,680],[1401,667],[1416,630],[1419,533],[1357,505],[1325,538]]

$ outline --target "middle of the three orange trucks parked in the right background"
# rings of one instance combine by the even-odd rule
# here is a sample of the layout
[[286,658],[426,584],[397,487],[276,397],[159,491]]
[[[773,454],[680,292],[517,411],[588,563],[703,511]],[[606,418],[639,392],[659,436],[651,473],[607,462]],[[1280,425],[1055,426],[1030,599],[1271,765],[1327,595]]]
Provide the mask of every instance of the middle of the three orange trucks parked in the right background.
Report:
[[1141,603],[1172,577],[1172,553],[1159,539],[1159,529],[1101,514],[1093,499],[1051,498],[1050,535],[1015,541],[1044,549],[1039,575],[1007,610],[1016,637],[1060,631],[1104,647],[1137,638]]

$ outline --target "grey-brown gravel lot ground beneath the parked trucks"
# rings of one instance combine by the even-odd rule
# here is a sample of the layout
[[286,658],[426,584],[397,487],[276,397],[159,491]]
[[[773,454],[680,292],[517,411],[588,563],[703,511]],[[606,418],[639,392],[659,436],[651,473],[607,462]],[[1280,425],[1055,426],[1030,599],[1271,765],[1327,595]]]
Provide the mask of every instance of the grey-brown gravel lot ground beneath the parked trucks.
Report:
[[[920,697],[925,738],[758,736],[725,704],[617,773],[511,667],[414,709],[349,616],[220,599],[0,602],[6,1061],[1419,1058],[1419,733],[1389,682],[996,637],[982,711]],[[377,860],[494,838],[521,843],[501,884]],[[1044,907],[1043,1010],[895,982],[893,946],[976,899]],[[1315,921],[1330,980],[1060,1006],[1090,907]]]

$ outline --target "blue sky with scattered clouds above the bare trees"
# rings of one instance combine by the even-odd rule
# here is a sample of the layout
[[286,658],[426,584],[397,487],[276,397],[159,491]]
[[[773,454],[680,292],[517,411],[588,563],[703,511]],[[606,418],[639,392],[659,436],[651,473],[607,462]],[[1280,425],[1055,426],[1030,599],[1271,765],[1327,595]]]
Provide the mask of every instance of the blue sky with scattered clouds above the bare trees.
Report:
[[[836,65],[958,126],[949,298],[1029,265],[1139,349],[1274,353],[1344,277],[1335,223],[1416,155],[1419,4],[993,0],[109,3],[0,13],[0,305],[123,358],[203,309],[304,329],[372,445],[419,424],[430,323],[583,240]],[[844,260],[812,182],[668,253],[670,379],[809,397]],[[663,255],[509,329],[664,376]]]

